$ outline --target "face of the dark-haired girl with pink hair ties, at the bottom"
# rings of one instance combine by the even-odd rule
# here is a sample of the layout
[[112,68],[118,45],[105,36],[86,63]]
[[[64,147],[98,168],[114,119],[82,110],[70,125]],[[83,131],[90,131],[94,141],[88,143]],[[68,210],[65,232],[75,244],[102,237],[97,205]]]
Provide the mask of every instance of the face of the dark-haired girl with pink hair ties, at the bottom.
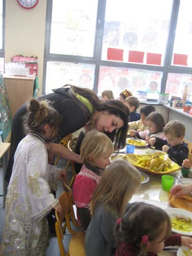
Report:
[[159,236],[159,238],[155,239],[154,241],[149,241],[147,245],[147,251],[153,252],[155,254],[159,253],[164,248],[164,241],[167,236],[167,223],[164,223],[164,230]]

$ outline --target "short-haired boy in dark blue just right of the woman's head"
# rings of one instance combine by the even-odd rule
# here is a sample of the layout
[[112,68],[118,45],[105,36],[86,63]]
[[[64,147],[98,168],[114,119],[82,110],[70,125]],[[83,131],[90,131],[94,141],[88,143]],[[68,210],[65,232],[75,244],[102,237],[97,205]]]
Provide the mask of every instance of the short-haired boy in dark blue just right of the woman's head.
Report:
[[129,121],[137,121],[141,119],[141,116],[139,113],[137,113],[137,109],[139,108],[139,100],[138,98],[134,96],[127,97],[124,102],[123,102],[127,108],[130,110],[130,116],[129,116]]

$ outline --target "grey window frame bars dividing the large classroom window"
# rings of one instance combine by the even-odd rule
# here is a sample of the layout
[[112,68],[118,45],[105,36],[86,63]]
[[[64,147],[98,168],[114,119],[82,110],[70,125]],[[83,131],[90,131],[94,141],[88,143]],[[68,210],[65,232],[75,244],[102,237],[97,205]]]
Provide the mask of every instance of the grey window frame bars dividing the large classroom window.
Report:
[[42,84],[42,94],[46,91],[46,69],[47,61],[64,61],[64,62],[81,62],[90,63],[95,65],[95,78],[93,90],[98,92],[98,79],[99,79],[99,67],[117,67],[117,68],[132,68],[142,70],[152,70],[163,72],[161,81],[161,92],[164,93],[166,89],[166,81],[168,73],[180,73],[180,74],[192,74],[192,68],[173,66],[172,55],[175,41],[175,31],[177,27],[177,19],[179,14],[180,0],[173,0],[173,8],[170,16],[170,23],[167,36],[167,45],[165,49],[165,57],[163,66],[155,65],[143,65],[139,63],[127,63],[119,61],[101,60],[102,52],[102,39],[104,30],[104,18],[106,0],[98,0],[97,20],[96,20],[96,33],[95,33],[95,47],[93,57],[82,57],[74,55],[62,55],[51,54],[50,49],[50,37],[51,37],[51,19],[52,19],[52,4],[54,0],[47,0],[47,16],[46,16],[46,36],[45,36],[45,55],[44,55],[44,74]]

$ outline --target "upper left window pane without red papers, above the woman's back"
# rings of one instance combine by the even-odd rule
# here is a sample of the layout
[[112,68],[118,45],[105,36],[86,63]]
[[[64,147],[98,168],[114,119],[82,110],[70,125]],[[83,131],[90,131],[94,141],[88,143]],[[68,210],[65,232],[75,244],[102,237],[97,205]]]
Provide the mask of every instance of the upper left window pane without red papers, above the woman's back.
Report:
[[50,53],[93,57],[97,0],[54,0]]

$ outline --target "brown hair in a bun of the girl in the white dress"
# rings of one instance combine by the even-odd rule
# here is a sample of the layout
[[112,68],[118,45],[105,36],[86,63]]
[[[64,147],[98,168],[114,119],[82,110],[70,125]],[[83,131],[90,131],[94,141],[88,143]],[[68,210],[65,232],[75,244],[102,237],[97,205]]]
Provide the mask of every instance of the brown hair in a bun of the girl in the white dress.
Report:
[[28,133],[29,130],[42,133],[42,127],[45,124],[54,126],[55,131],[61,123],[61,116],[50,106],[48,100],[37,100],[31,98],[28,104],[28,113],[24,116],[24,129]]

